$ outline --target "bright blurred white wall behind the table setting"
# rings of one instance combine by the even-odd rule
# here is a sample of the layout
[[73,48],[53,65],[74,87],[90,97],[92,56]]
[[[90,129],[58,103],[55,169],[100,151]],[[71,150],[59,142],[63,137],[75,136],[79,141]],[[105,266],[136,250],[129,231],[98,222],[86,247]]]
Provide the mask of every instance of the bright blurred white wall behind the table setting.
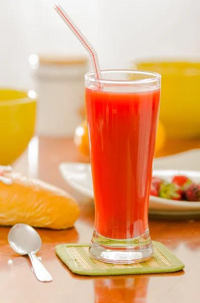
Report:
[[[52,0],[0,0],[0,85],[31,89],[28,57],[85,49]],[[98,51],[102,69],[137,59],[200,59],[199,0],[60,0]]]

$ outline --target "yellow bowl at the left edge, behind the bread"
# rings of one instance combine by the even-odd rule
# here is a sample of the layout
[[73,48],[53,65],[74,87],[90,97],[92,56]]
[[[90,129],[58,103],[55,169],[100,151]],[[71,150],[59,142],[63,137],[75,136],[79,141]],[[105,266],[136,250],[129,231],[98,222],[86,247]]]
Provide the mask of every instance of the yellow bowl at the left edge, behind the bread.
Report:
[[0,165],[12,164],[34,134],[36,94],[0,89]]

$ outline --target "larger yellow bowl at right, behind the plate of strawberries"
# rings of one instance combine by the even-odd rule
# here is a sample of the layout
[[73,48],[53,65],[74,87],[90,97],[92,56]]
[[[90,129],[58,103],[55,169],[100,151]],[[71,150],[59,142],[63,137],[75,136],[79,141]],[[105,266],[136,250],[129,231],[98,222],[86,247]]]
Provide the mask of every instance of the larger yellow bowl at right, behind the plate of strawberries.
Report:
[[200,136],[200,63],[138,62],[136,67],[162,75],[160,119],[167,137]]

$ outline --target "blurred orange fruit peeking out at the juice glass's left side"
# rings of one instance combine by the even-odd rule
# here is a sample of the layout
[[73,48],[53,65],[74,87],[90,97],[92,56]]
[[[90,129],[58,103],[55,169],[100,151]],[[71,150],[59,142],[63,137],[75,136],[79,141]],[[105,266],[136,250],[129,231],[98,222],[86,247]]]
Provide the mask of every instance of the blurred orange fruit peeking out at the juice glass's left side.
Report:
[[75,130],[74,136],[75,145],[84,156],[89,156],[89,138],[87,122],[84,120]]

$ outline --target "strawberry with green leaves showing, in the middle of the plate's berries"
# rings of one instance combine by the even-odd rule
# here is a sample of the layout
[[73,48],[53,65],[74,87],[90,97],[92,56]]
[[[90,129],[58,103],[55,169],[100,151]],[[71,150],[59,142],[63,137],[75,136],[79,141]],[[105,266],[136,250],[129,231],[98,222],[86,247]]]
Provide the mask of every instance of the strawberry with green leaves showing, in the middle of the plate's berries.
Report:
[[175,183],[161,184],[159,196],[165,199],[180,201],[183,197],[183,191],[181,187]]

